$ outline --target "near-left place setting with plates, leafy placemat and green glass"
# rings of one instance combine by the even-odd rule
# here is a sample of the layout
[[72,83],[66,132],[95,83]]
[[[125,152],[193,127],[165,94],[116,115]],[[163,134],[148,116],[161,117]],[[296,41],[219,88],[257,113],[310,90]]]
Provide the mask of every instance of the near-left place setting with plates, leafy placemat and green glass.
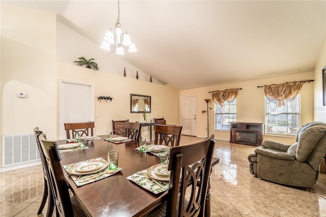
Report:
[[[108,155],[109,156],[109,155]],[[118,173],[122,168],[118,167],[118,155],[106,161],[103,158],[95,158],[76,162],[74,164],[63,165],[77,186],[82,186]],[[113,157],[115,157],[113,159]]]

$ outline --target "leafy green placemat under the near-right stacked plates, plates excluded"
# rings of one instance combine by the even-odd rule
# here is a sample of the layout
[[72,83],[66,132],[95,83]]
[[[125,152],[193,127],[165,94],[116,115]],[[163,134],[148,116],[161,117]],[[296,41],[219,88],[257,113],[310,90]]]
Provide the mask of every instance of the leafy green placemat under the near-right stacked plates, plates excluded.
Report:
[[134,183],[154,194],[159,194],[169,189],[169,182],[156,180],[162,186],[160,187],[152,179],[146,178],[146,173],[147,169],[134,173],[131,176],[128,176],[126,179],[133,181]]

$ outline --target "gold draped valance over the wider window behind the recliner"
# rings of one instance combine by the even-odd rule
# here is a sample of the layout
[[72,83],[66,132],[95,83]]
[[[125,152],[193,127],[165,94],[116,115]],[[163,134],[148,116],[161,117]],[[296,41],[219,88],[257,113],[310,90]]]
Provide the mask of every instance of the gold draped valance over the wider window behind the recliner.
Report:
[[284,100],[294,100],[302,88],[302,82],[286,82],[282,84],[266,85],[264,92],[266,97],[279,101],[279,107],[285,105]]

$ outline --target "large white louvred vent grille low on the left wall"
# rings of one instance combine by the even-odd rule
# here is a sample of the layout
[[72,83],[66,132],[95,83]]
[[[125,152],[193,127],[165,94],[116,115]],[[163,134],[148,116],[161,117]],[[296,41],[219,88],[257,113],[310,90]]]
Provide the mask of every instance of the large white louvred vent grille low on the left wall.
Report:
[[2,167],[26,164],[40,160],[34,133],[2,136]]

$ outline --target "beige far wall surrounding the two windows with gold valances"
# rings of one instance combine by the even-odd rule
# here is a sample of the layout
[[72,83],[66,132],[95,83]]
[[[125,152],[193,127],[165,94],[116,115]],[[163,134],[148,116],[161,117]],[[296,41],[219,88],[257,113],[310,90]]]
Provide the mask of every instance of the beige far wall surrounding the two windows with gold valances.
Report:
[[[264,89],[257,88],[257,86],[279,84],[294,80],[313,79],[313,76],[313,72],[305,72],[292,75],[261,78],[248,80],[245,82],[182,90],[180,91],[180,96],[197,95],[197,135],[199,137],[206,137],[207,114],[202,114],[201,111],[207,110],[207,104],[204,99],[211,99],[211,94],[208,93],[209,91],[242,88],[242,90],[238,91],[237,95],[237,122],[264,123]],[[301,90],[301,125],[313,121],[313,87],[313,83],[305,83]],[[214,107],[212,101],[210,102],[209,106]],[[230,140],[229,131],[214,130],[214,112],[210,111],[209,117],[209,134],[215,134],[215,139]],[[294,142],[294,137],[265,135],[265,139],[276,140],[287,144]]]

